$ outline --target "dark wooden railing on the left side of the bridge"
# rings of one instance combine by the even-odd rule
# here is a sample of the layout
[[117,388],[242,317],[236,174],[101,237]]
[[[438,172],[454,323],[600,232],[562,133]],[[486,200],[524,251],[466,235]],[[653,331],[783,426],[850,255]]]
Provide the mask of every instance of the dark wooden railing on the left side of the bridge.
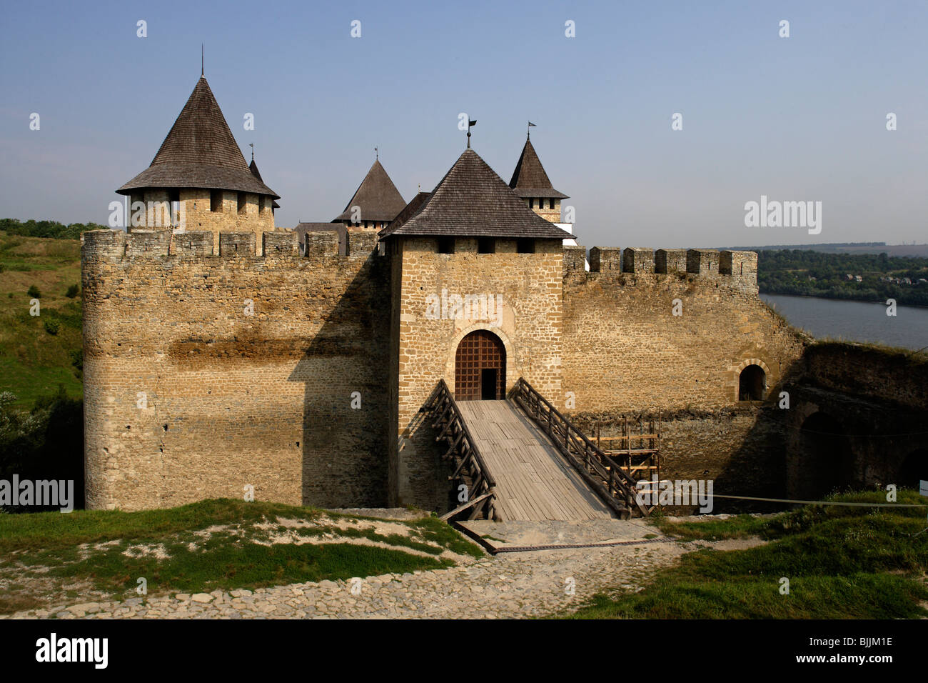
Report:
[[432,416],[432,427],[439,430],[435,440],[444,439],[448,443],[448,450],[442,456],[443,460],[451,461],[454,466],[454,472],[448,479],[464,483],[468,487],[467,502],[443,515],[443,519],[449,519],[468,508],[470,513],[467,519],[476,519],[479,516],[494,519],[496,479],[493,479],[476,441],[470,436],[470,430],[458,410],[458,403],[455,402],[444,379],[438,380],[432,396],[419,410]]

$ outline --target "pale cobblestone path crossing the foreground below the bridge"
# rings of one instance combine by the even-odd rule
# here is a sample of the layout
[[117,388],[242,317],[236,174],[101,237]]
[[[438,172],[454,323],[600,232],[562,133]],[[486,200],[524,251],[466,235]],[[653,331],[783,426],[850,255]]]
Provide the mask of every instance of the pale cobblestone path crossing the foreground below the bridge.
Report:
[[[496,532],[501,533],[498,529]],[[642,526],[636,532],[608,535],[631,535],[640,539],[645,532],[654,532],[654,529]],[[519,535],[523,537],[523,533],[524,530]],[[561,536],[558,540],[570,540],[563,539],[560,531],[557,535]],[[586,542],[588,538],[578,540]],[[704,545],[710,544],[661,540],[642,545],[500,553],[479,559],[459,558],[462,564],[447,570],[385,574],[347,582],[290,584],[253,591],[216,590],[208,594],[149,596],[144,601],[132,598],[60,605],[47,610],[22,611],[9,617],[467,619],[544,616],[574,610],[599,592],[637,590],[655,569]]]

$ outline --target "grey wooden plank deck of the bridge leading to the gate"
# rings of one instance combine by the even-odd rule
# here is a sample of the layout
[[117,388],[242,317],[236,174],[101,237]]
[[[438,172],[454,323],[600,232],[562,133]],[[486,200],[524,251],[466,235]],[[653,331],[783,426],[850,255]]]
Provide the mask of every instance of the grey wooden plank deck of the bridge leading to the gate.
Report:
[[496,479],[503,521],[614,519],[615,514],[522,410],[509,401],[458,401]]

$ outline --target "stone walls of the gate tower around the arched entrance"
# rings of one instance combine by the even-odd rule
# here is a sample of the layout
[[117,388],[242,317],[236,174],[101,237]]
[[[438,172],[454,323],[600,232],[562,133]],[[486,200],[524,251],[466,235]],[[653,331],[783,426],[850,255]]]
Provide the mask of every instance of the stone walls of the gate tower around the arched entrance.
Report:
[[[436,253],[434,238],[392,242],[398,437],[391,443],[393,503],[446,509],[448,472],[419,408],[440,378],[454,391],[458,343],[475,329],[503,341],[507,390],[524,376],[546,396],[561,396],[561,242],[537,240],[535,254],[517,253],[515,240],[496,240],[494,254],[478,254],[475,239],[458,238],[454,254]],[[459,319],[429,315],[430,296],[473,295],[500,303],[493,320],[472,310]]]

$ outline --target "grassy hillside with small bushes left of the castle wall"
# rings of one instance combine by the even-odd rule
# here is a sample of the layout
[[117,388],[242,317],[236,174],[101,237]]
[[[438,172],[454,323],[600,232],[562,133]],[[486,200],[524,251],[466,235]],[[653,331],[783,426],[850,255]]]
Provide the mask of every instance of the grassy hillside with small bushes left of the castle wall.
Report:
[[[58,385],[82,396],[80,282],[78,240],[0,231],[0,393],[15,394],[15,405],[32,408]],[[30,315],[31,287],[39,292],[38,316]]]

